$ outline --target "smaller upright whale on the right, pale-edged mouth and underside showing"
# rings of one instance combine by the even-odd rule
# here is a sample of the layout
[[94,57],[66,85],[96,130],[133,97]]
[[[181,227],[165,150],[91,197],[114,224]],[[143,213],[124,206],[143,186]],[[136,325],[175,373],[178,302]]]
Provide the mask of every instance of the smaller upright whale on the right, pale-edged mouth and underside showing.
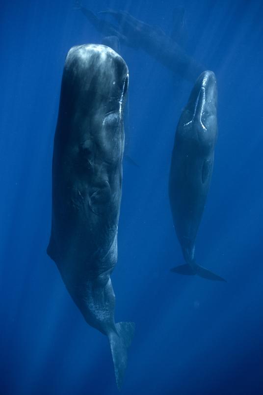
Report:
[[197,79],[180,117],[169,178],[173,222],[186,265],[172,271],[223,279],[195,262],[195,239],[210,187],[217,139],[217,86],[212,71]]

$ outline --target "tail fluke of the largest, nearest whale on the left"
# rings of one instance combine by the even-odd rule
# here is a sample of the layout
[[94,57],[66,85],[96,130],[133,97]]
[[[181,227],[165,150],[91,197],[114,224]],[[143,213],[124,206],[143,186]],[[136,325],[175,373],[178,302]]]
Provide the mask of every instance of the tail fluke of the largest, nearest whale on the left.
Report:
[[133,322],[118,322],[116,324],[116,332],[108,335],[111,355],[114,364],[115,378],[117,387],[122,387],[126,367],[127,367],[127,348],[130,346],[135,324]]

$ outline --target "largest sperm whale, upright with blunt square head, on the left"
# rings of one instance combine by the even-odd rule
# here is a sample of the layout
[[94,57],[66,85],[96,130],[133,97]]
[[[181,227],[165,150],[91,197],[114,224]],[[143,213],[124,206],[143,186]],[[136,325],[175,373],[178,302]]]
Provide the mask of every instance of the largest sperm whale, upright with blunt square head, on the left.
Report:
[[132,323],[114,321],[110,280],[117,262],[128,81],[126,63],[104,45],[73,47],[66,57],[47,250],[86,322],[108,336],[118,387],[133,332]]

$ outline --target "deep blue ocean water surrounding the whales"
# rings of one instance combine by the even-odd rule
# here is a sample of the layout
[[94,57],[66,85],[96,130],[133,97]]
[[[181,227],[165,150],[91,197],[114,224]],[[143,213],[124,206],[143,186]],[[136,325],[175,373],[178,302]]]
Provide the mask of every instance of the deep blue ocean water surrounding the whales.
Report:
[[[227,279],[183,277],[168,200],[171,151],[192,83],[123,46],[130,72],[116,321],[136,332],[121,394],[263,394],[263,5],[252,1],[83,3],[172,29],[218,84],[218,141],[196,259]],[[0,394],[118,394],[108,341],[89,327],[46,254],[53,135],[65,56],[102,36],[73,1],[2,4],[0,23]]]

